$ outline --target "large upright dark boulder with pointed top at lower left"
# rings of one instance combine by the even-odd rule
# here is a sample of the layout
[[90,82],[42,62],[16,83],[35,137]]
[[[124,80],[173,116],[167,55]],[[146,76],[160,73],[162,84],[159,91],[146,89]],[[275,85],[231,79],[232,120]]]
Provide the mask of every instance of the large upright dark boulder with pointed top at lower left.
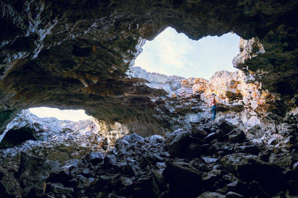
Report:
[[50,172],[59,168],[58,165],[57,162],[21,152],[21,161],[18,168],[21,187],[31,187],[38,181],[46,179]]

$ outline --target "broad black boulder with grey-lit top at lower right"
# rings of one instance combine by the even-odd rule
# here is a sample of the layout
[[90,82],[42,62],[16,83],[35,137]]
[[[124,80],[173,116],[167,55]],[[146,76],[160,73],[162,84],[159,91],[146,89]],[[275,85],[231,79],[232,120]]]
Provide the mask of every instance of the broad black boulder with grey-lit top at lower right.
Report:
[[[283,186],[282,169],[274,164],[257,159],[257,156],[243,153],[234,153],[220,159],[224,169],[236,174],[247,181],[260,183],[265,190],[271,189],[271,193],[279,192]],[[274,172],[274,175],[272,174]],[[274,191],[272,188],[274,187]]]

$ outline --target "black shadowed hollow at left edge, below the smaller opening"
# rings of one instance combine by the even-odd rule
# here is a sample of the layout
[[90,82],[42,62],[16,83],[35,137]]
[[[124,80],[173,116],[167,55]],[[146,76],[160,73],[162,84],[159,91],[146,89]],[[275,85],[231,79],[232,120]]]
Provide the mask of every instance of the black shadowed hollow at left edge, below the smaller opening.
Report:
[[26,140],[37,140],[34,134],[35,130],[29,127],[9,130],[0,142],[0,148],[13,148]]

